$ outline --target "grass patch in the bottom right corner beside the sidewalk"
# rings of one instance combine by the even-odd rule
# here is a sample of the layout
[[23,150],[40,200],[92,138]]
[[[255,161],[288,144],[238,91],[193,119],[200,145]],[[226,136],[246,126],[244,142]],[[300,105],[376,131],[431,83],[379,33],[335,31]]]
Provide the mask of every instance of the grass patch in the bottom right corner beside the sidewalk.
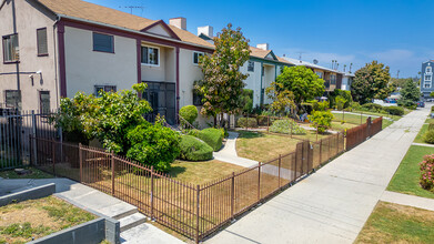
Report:
[[379,202],[354,243],[434,243],[434,212]]

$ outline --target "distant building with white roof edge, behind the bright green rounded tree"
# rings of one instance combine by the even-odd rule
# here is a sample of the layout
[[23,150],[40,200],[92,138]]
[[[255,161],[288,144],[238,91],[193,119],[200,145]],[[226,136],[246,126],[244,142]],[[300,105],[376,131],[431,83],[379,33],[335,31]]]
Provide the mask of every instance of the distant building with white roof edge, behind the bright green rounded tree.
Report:
[[287,57],[284,57],[283,59],[287,60],[291,63],[294,63],[297,67],[303,65],[310,68],[313,72],[315,72],[321,79],[325,81],[324,85],[326,92],[334,91],[334,89],[342,89],[342,79],[344,74],[343,72]]

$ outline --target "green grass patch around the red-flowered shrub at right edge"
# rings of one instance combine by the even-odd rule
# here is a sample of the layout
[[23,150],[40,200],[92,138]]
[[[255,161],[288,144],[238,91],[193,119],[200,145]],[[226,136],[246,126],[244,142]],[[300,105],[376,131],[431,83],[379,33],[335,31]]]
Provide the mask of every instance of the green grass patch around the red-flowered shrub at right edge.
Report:
[[388,183],[387,190],[434,199],[434,193],[423,190],[418,184],[418,163],[423,161],[424,155],[433,153],[434,148],[412,145]]

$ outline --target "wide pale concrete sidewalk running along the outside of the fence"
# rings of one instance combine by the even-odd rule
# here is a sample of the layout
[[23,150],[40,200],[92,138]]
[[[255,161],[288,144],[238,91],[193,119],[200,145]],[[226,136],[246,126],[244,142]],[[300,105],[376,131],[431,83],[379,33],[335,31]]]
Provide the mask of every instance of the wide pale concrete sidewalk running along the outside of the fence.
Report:
[[405,115],[208,243],[353,243],[428,112]]

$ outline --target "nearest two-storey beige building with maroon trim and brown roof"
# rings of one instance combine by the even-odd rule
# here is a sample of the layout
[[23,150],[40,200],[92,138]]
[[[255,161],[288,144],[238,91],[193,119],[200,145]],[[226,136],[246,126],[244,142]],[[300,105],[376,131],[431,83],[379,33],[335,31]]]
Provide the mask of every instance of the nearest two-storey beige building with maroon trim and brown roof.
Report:
[[22,110],[147,82],[153,115],[174,123],[203,77],[198,58],[213,52],[184,18],[166,24],[81,0],[2,0],[0,23],[0,100]]

